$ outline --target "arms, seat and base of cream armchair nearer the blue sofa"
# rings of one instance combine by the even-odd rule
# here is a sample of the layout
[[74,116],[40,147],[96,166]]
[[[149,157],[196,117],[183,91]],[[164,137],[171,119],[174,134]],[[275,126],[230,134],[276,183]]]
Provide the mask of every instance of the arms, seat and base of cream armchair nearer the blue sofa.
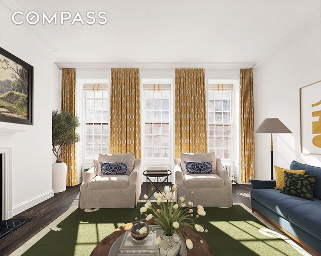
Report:
[[[217,174],[184,175],[181,159],[174,159],[177,201],[185,195],[185,202],[194,201],[194,205],[230,207],[232,200],[232,183],[228,171],[222,166],[221,159],[216,159]],[[195,200],[191,194],[194,191]]]

